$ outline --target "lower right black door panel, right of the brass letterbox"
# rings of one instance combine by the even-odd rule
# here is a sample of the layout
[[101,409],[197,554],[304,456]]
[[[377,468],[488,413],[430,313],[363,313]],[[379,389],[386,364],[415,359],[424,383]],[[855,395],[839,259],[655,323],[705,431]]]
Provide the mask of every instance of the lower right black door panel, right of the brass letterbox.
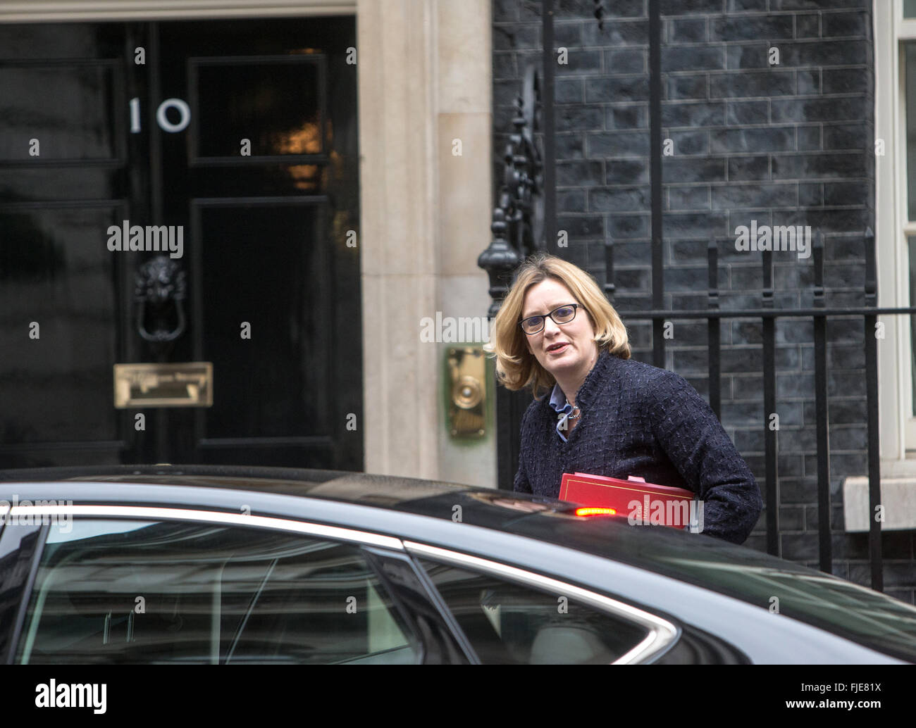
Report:
[[[308,197],[195,205],[199,288],[213,291],[202,301],[202,356],[224,372],[225,395],[206,411],[205,438],[309,437],[331,444],[333,291],[325,277],[310,280],[311,272],[328,267],[321,209],[321,200]],[[251,325],[251,340],[240,338],[243,322]],[[270,356],[259,341],[270,342]],[[256,395],[231,396],[245,391]]]

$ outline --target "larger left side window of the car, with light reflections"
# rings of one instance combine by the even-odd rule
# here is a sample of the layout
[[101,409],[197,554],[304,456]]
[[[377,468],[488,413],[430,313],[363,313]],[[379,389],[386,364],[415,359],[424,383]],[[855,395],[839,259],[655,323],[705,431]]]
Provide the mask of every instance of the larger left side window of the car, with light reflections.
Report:
[[74,520],[49,529],[21,663],[417,662],[358,546],[269,529]]

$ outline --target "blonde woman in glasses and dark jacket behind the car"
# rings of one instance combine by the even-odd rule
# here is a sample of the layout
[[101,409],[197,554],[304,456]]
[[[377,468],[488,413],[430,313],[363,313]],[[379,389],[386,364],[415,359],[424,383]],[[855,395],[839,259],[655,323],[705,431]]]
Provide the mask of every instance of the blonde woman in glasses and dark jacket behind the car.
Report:
[[698,494],[706,535],[747,539],[762,507],[747,463],[682,376],[630,359],[623,321],[582,268],[529,258],[490,332],[500,384],[534,396],[514,490],[556,497],[562,473],[637,475]]

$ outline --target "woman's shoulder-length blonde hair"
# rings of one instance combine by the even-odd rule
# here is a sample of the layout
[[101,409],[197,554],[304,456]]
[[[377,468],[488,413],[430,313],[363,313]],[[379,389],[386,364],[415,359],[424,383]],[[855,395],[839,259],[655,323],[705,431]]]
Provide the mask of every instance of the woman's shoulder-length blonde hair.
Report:
[[630,357],[627,327],[594,277],[556,255],[531,255],[519,266],[512,288],[490,325],[490,342],[484,348],[496,356],[496,381],[513,390],[529,386],[535,399],[546,395],[556,380],[529,352],[525,342],[527,334],[518,322],[529,288],[547,278],[569,288],[575,302],[583,305],[594,326],[593,341],[598,344],[599,351],[606,349],[621,359]]

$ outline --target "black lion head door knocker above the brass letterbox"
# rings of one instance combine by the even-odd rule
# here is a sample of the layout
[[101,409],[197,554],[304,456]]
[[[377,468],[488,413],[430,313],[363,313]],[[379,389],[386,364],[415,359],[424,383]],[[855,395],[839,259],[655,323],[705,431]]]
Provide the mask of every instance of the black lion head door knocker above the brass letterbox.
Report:
[[157,255],[136,271],[134,300],[138,306],[136,330],[160,353],[184,333],[187,321],[185,271],[168,255]]

